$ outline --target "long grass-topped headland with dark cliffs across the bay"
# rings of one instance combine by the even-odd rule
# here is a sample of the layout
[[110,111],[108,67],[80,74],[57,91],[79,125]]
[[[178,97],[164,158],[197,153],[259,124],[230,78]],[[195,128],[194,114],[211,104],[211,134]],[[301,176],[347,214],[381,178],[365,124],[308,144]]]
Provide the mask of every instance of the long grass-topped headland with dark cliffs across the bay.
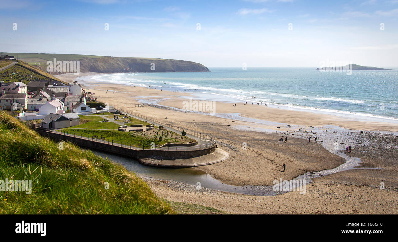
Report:
[[[0,53],[17,56],[41,70],[46,70],[47,61],[80,61],[80,72],[206,72],[209,69],[192,61],[138,57],[105,57],[95,55],[45,54],[45,53]],[[151,70],[154,63],[154,70]],[[62,72],[49,72],[62,74]]]

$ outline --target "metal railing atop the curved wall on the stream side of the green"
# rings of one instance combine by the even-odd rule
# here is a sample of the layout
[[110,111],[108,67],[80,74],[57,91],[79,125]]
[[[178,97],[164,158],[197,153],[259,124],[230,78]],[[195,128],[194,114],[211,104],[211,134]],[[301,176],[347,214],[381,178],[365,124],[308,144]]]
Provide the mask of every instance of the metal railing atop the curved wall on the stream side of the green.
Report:
[[46,131],[57,133],[60,135],[66,135],[69,137],[75,137],[80,139],[86,139],[90,141],[101,142],[104,144],[112,144],[116,146],[121,146],[125,148],[130,148],[134,150],[170,150],[170,151],[189,151],[189,150],[202,150],[206,148],[212,148],[215,146],[216,142],[212,141],[207,144],[198,144],[198,145],[191,145],[191,146],[160,146],[160,145],[138,145],[138,144],[131,144],[122,141],[114,141],[111,139],[101,139],[101,137],[94,137],[91,135],[82,135],[80,133],[74,133],[66,130],[57,130],[57,129],[45,129]]

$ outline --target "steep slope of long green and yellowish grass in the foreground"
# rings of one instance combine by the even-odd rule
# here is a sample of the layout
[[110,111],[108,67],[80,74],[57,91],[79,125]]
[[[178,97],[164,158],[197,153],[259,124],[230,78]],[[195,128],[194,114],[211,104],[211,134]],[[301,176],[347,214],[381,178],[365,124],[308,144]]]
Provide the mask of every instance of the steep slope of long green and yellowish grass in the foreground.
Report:
[[123,166],[69,142],[59,149],[5,112],[0,112],[0,168],[0,180],[32,180],[31,194],[0,193],[0,214],[175,213]]

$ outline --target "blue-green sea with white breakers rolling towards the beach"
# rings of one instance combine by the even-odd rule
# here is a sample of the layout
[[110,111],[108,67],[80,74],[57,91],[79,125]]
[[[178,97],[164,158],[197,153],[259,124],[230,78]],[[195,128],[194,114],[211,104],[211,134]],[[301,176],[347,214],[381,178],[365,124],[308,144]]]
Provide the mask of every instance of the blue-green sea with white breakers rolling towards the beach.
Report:
[[[392,68],[398,69],[398,68]],[[209,68],[210,72],[115,73],[81,82],[189,92],[197,100],[270,105],[353,119],[398,122],[398,71],[321,72],[315,68]],[[119,90],[121,92],[123,90]]]

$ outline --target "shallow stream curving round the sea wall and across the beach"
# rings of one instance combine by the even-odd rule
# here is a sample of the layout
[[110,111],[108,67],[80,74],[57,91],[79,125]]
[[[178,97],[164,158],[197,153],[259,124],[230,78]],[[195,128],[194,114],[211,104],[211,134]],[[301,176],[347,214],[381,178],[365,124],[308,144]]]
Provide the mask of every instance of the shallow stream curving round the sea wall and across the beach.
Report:
[[[328,169],[328,170],[322,170],[319,172],[307,172],[305,174],[302,174],[298,176],[297,178],[294,178],[292,181],[301,181],[302,184],[308,184],[312,182],[312,178],[318,178],[320,176],[326,176],[329,174],[334,174],[336,172],[341,172],[345,170],[351,170],[351,169],[357,169],[355,168],[356,166],[359,166],[361,163],[361,160],[356,157],[351,157],[348,156],[345,153],[339,152],[338,150],[335,150],[335,140],[337,139],[331,139],[333,138],[341,138],[344,139],[345,142],[347,139],[349,140],[350,138],[347,138],[346,133],[348,130],[345,129],[340,129],[338,127],[328,127],[331,128],[329,129],[328,132],[323,133],[320,135],[317,133],[318,140],[323,140],[322,146],[324,146],[327,150],[330,152],[337,154],[338,156],[342,157],[345,159],[345,163],[341,164],[340,166],[333,168],[333,169]],[[317,129],[314,127],[314,129]],[[352,131],[351,131],[352,132]],[[305,138],[306,135],[309,135],[309,133],[295,133],[296,137],[302,137]],[[117,162],[121,165],[123,165],[127,170],[135,172],[138,176],[144,177],[144,178],[151,178],[151,179],[157,179],[157,180],[172,180],[172,181],[179,181],[182,183],[187,183],[191,185],[197,186],[198,182],[200,182],[201,187],[206,187],[210,189],[215,189],[219,191],[227,191],[227,192],[233,192],[233,193],[242,193],[242,194],[248,194],[248,195],[259,195],[259,196],[275,196],[278,194],[286,193],[288,191],[286,190],[280,190],[280,191],[274,191],[273,187],[274,185],[269,185],[269,186],[261,186],[261,185],[247,185],[247,186],[234,186],[234,185],[228,185],[225,183],[222,183],[221,181],[211,177],[209,174],[206,172],[203,172],[199,169],[195,168],[157,168],[153,166],[144,166],[139,163],[138,160],[124,157],[124,156],[119,156],[115,154],[110,154],[110,153],[105,153],[105,152],[99,152],[99,151],[93,151],[95,154],[105,158],[107,157],[109,160],[113,160],[114,162]],[[367,168],[369,169],[369,168]],[[372,168],[371,168],[372,169]],[[378,168],[373,168],[373,169],[378,169]],[[286,182],[286,181],[284,181]],[[292,183],[291,181],[287,181],[289,183]],[[285,184],[285,183],[283,183]],[[299,184],[299,183],[298,183]],[[299,190],[298,184],[293,183],[293,185],[290,185],[289,189],[296,189],[296,191]],[[304,191],[303,187],[301,187],[300,191]]]

